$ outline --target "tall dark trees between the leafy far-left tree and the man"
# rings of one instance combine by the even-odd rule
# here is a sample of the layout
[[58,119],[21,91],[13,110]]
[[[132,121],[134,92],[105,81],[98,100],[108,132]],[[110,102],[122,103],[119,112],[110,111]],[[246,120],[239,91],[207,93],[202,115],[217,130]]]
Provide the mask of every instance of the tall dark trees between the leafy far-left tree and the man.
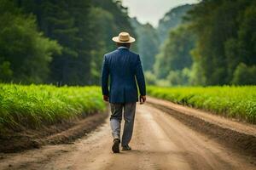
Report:
[[50,63],[49,83],[99,84],[102,54],[115,47],[111,37],[119,31],[134,35],[127,8],[119,1],[13,1],[36,15],[39,29],[63,47]]

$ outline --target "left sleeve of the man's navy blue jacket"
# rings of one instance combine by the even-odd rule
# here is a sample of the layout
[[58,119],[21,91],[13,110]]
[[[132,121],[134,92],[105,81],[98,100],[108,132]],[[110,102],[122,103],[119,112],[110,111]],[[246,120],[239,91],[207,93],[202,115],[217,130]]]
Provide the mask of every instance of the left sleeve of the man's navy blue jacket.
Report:
[[109,95],[108,76],[109,76],[108,59],[106,59],[106,56],[104,55],[103,64],[102,64],[102,94],[103,95]]

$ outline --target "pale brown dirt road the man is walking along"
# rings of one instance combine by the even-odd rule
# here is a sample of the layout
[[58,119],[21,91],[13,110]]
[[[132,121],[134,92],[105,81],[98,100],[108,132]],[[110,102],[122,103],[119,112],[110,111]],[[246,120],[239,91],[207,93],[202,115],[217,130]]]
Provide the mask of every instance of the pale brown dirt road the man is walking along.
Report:
[[138,105],[131,151],[113,154],[108,120],[73,144],[0,155],[0,169],[256,169],[214,139],[197,133],[149,105]]

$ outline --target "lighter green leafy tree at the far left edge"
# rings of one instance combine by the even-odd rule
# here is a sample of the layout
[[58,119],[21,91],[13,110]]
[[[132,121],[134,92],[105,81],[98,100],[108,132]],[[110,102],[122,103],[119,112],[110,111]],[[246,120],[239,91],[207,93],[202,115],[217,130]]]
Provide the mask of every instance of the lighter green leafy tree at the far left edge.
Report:
[[44,82],[52,55],[61,54],[61,46],[38,32],[34,17],[21,14],[8,0],[1,1],[0,11],[1,80]]

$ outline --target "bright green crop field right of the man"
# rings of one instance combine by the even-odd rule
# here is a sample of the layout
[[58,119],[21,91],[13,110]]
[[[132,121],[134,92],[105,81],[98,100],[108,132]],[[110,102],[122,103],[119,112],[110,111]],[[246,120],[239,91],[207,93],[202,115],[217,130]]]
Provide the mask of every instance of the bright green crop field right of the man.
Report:
[[148,95],[256,123],[256,86],[148,87]]

